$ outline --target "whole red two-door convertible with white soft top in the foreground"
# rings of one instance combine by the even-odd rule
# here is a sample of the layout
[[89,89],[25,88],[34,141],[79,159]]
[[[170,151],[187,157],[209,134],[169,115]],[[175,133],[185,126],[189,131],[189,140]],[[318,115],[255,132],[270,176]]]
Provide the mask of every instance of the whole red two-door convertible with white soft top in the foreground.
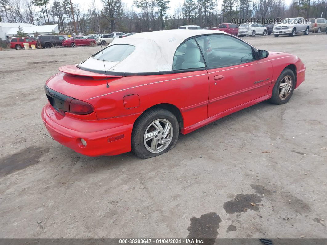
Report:
[[269,99],[284,104],[303,81],[295,55],[258,50],[217,30],[164,30],[117,38],[45,83],[51,136],[88,156],[172,149],[186,134]]

